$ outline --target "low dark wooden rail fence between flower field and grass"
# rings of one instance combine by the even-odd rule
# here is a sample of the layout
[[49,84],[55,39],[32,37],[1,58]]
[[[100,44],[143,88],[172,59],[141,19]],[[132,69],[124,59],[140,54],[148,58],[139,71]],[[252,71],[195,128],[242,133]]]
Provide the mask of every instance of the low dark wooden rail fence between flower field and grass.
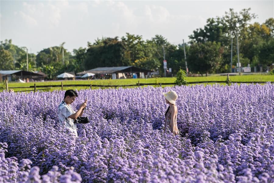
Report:
[[[229,75],[227,75],[227,80],[226,81],[194,81],[194,82],[188,82],[188,84],[202,84],[202,83],[228,83],[229,81]],[[241,82],[236,82],[236,81],[229,81],[230,83],[267,83],[267,82],[263,82],[263,81],[241,81]],[[271,81],[270,83],[274,83],[273,81]],[[158,85],[158,86],[162,86],[162,85],[175,85],[175,83],[140,83],[140,81],[138,81],[138,83],[136,84],[125,84],[125,85],[98,85],[98,84],[63,84],[63,81],[61,81],[60,85],[36,85],[34,84],[33,86],[28,86],[28,87],[9,87],[8,86],[8,81],[6,80],[6,90],[9,91],[9,89],[13,89],[13,88],[29,88],[31,90],[23,90],[23,91],[15,91],[15,92],[24,92],[24,91],[38,91],[38,90],[48,90],[48,88],[54,88],[54,87],[61,87],[61,90],[63,90],[64,87],[72,87],[72,86],[85,86],[85,87],[90,87],[90,89],[92,89],[92,87],[127,87],[127,86],[145,86],[145,85]],[[33,89],[32,89],[33,88]],[[38,89],[39,88],[39,89]],[[5,89],[5,88],[1,88],[1,89]]]

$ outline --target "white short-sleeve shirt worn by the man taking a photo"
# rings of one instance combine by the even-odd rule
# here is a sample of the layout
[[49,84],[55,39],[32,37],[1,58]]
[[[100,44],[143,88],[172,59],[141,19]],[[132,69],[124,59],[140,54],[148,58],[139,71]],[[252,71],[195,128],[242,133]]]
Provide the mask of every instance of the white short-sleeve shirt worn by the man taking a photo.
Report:
[[74,120],[69,118],[70,115],[74,114],[75,111],[73,111],[72,107],[69,104],[66,104],[66,102],[63,100],[60,105],[58,106],[58,117],[59,117],[59,124],[63,126],[63,123],[65,122],[65,126],[72,131],[73,133],[77,135],[77,127],[74,123]]

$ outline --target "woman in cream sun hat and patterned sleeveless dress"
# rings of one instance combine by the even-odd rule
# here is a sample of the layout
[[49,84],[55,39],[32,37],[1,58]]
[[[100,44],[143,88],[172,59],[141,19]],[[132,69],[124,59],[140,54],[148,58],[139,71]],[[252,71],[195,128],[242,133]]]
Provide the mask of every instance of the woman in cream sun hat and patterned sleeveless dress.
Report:
[[164,132],[166,131],[166,127],[170,129],[170,131],[173,133],[173,135],[178,135],[179,134],[179,130],[177,127],[177,106],[175,104],[175,101],[178,98],[178,95],[175,91],[169,91],[167,93],[163,92],[163,95],[166,98],[166,103],[169,104],[167,111],[165,113],[165,128],[164,128]]

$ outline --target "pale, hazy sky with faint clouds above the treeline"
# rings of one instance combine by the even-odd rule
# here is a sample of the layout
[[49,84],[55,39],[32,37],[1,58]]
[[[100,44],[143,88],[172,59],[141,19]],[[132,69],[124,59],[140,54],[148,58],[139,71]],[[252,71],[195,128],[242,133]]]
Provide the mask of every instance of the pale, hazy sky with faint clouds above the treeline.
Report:
[[68,51],[86,47],[97,38],[121,38],[126,32],[144,40],[161,34],[172,44],[206,19],[233,8],[251,8],[263,23],[274,16],[274,1],[0,1],[0,40],[26,46],[37,54],[66,42]]

